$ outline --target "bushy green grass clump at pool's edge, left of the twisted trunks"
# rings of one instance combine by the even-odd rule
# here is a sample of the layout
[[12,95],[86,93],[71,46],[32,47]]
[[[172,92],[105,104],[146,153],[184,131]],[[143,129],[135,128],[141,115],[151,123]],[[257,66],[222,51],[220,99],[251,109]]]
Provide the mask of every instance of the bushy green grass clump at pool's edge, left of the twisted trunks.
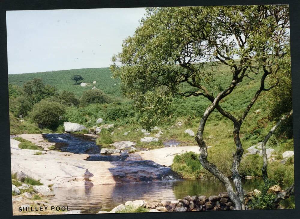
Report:
[[171,168],[184,179],[201,177],[199,170],[202,169],[202,165],[199,161],[199,154],[194,152],[185,152],[181,155],[175,155]]

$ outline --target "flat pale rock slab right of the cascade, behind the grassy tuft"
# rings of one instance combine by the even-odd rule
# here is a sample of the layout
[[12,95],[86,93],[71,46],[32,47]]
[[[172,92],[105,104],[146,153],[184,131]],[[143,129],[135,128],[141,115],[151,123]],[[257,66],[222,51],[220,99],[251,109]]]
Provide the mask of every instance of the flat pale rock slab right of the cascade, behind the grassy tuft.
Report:
[[199,146],[168,147],[154,149],[150,151],[140,151],[135,153],[140,155],[141,158],[143,158],[143,160],[152,160],[155,163],[169,167],[173,164],[173,159],[175,155],[189,151],[200,154]]

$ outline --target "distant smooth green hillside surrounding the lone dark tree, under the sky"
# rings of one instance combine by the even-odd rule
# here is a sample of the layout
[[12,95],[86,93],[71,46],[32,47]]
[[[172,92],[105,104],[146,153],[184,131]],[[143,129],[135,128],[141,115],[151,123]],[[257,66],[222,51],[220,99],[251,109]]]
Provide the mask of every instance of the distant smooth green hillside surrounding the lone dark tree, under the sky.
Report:
[[[92,83],[96,81],[95,85],[86,87],[75,85],[75,81],[71,77],[75,74],[80,74],[84,79],[80,82]],[[80,97],[83,91],[91,89],[93,86],[104,91],[104,93],[113,96],[120,96],[120,81],[111,78],[110,69],[107,68],[84,68],[60,71],[48,71],[37,73],[24,73],[24,74],[9,74],[8,82],[18,86],[22,86],[24,82],[34,78],[43,79],[45,84],[54,86],[58,92],[63,90],[71,91],[76,96]]]

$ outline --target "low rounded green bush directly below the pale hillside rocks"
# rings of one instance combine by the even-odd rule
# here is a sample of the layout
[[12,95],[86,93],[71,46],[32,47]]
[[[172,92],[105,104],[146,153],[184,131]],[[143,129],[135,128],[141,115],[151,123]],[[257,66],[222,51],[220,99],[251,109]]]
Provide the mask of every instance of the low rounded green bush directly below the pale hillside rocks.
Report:
[[94,90],[87,90],[84,91],[81,97],[81,105],[85,106],[88,104],[104,104],[109,103],[110,97],[105,95],[101,90],[94,89]]

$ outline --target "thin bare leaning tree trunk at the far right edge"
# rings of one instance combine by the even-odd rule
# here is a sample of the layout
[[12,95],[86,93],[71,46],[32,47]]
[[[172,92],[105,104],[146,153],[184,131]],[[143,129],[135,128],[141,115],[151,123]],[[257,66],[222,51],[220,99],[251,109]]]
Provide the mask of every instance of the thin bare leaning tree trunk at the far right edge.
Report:
[[269,133],[266,135],[264,141],[262,142],[262,160],[263,160],[263,165],[262,165],[262,178],[263,180],[266,182],[266,180],[268,179],[268,173],[267,173],[267,167],[268,167],[268,159],[267,159],[267,152],[265,149],[265,145],[267,144],[269,138],[271,137],[271,135],[274,133],[274,131],[276,130],[276,128],[287,118],[289,118],[289,116],[291,116],[293,114],[293,110],[291,110],[289,113],[287,113],[286,115],[282,116],[278,122],[276,123],[276,125],[273,126],[273,128],[271,128],[271,130],[269,131]]

